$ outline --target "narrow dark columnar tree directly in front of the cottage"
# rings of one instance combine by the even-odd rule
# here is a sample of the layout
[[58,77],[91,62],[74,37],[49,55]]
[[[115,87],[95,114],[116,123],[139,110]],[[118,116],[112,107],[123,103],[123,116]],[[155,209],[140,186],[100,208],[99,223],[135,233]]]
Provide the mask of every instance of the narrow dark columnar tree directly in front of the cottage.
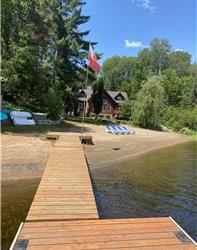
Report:
[[103,107],[103,92],[104,92],[104,82],[102,78],[98,78],[93,85],[92,103],[94,112],[96,114],[96,120],[98,119],[99,113],[102,111]]

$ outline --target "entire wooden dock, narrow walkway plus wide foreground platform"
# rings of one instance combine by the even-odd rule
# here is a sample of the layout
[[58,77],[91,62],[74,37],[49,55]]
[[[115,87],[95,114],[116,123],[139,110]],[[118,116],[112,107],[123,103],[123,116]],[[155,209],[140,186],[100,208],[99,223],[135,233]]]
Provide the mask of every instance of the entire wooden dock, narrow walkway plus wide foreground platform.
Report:
[[57,141],[10,249],[197,249],[172,218],[99,220],[79,135],[49,136]]

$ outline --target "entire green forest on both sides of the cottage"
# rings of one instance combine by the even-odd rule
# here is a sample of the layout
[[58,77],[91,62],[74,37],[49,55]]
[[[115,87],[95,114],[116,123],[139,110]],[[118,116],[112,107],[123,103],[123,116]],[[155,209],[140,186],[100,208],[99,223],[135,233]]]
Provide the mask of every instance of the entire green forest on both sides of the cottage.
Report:
[[[1,84],[3,100],[59,119],[74,108],[84,87],[89,31],[82,0],[2,0]],[[90,13],[91,14],[91,13]],[[98,58],[102,56],[100,51]],[[95,83],[96,82],[96,83]],[[188,52],[153,38],[135,57],[107,58],[89,85],[126,91],[120,118],[144,128],[161,125],[193,134],[197,129],[197,67]]]

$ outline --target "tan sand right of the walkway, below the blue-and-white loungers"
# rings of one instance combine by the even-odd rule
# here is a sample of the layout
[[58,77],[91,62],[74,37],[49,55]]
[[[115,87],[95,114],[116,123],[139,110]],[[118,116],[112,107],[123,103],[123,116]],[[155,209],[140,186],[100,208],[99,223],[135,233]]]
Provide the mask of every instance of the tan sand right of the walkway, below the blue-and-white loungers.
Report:
[[85,145],[85,153],[91,168],[111,165],[140,154],[163,147],[191,141],[192,138],[173,132],[160,132],[132,128],[134,135],[107,134],[102,126],[92,128],[94,145]]

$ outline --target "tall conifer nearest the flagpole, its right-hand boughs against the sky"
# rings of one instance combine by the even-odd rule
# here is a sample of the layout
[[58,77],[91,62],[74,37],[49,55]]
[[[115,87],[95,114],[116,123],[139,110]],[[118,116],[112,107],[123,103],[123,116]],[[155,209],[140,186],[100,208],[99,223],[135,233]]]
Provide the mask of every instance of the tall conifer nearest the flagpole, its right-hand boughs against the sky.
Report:
[[65,98],[63,92],[67,87],[75,89],[78,72],[85,67],[89,42],[84,37],[89,33],[80,32],[79,26],[89,20],[82,15],[82,0],[43,0],[43,17],[49,27],[51,41],[49,43],[48,65],[51,67],[51,87],[55,86],[62,94],[62,107]]

